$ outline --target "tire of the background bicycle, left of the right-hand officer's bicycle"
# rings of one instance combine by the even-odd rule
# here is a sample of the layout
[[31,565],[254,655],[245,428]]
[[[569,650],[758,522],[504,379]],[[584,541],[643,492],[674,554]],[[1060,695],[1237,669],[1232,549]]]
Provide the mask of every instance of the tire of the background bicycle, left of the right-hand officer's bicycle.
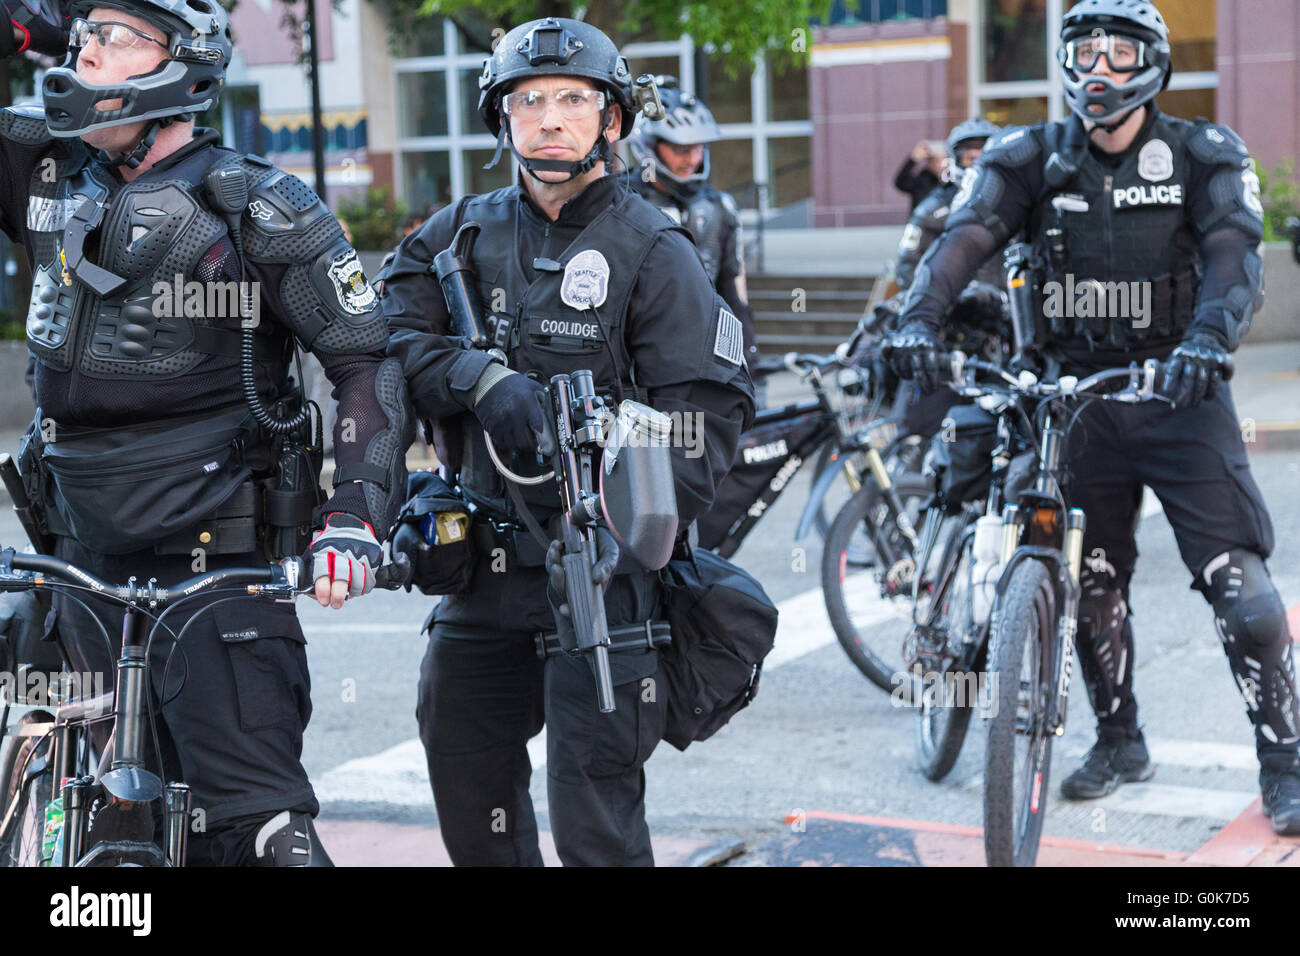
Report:
[[[898,477],[894,488],[904,507],[909,507],[911,502],[909,511],[919,509],[919,503],[932,493],[930,481],[919,475]],[[906,679],[901,683],[898,680],[898,675],[905,674],[902,641],[911,624],[910,594],[900,594],[888,602],[897,605],[893,617],[898,627],[885,627],[894,622],[866,607],[867,604],[874,604],[880,593],[876,574],[863,563],[849,562],[850,553],[863,546],[861,541],[854,542],[854,536],[880,505],[883,505],[880,489],[870,481],[858,489],[835,516],[822,549],[822,594],[836,640],[849,659],[881,691],[898,695],[902,702],[910,702],[911,683]],[[900,532],[894,531],[892,537],[901,541],[900,549],[907,546],[906,538]],[[871,553],[876,568],[883,571],[889,567],[890,559],[875,554],[875,546],[870,540],[864,546]],[[879,600],[885,601],[885,598]],[[868,610],[871,613],[864,613]]]

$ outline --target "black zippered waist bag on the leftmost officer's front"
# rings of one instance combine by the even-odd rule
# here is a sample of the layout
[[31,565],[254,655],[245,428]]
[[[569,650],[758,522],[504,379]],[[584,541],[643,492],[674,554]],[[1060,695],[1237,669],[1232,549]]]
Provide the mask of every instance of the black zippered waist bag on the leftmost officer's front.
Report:
[[152,548],[213,515],[250,479],[244,450],[256,429],[242,403],[116,428],[55,423],[40,449],[52,507],[96,551]]

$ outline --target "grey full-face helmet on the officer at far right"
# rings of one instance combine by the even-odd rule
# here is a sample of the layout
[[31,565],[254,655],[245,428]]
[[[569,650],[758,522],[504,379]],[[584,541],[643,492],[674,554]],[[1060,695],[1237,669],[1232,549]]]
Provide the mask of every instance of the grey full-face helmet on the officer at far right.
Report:
[[[1119,34],[1141,44],[1138,69],[1126,83],[1109,77],[1079,73],[1069,62],[1069,44],[1088,34]],[[1119,126],[1132,111],[1154,99],[1166,86],[1171,72],[1169,27],[1160,10],[1148,0],[1083,0],[1061,21],[1061,46],[1057,49],[1065,99],[1070,109],[1102,129]],[[1114,69],[1114,64],[1109,64]],[[1088,92],[1091,83],[1100,83],[1102,92]],[[1089,109],[1097,107],[1097,109]]]

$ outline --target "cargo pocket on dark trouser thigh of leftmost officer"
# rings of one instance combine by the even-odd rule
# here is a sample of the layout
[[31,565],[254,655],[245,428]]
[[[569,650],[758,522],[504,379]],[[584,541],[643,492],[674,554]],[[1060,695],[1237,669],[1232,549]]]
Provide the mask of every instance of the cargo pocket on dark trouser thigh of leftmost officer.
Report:
[[238,601],[211,611],[230,654],[239,726],[296,732],[312,714],[307,639],[291,606]]

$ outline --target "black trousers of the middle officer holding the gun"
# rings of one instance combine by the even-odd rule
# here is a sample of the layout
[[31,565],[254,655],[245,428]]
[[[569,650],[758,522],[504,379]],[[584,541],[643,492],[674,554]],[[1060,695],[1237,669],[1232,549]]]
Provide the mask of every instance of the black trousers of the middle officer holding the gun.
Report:
[[[554,631],[542,568],[478,563],[469,593],[433,615],[416,718],[442,839],[458,866],[541,866],[528,793],[526,743],[546,726],[551,834],[566,866],[650,866],[645,771],[667,688],[658,650],[610,656],[616,710],[597,708],[585,657],[537,657]],[[656,617],[650,575],[619,575],[606,600],[612,626]]]

